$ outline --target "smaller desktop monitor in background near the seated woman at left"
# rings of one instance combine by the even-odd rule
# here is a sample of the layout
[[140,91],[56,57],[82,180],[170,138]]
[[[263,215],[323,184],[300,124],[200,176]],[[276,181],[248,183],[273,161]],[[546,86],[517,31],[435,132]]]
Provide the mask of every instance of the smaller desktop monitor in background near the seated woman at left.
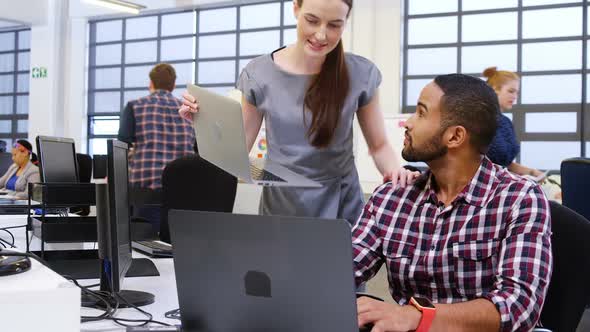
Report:
[[41,182],[79,182],[73,139],[37,136],[36,143]]

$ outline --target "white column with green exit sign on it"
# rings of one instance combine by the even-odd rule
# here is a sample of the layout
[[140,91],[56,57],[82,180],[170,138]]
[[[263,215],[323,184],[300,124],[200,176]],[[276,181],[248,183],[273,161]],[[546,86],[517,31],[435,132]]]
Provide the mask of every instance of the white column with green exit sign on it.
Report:
[[30,79],[29,139],[69,137],[85,152],[88,21],[70,18],[68,3],[48,0],[46,22],[31,27],[31,68],[47,68],[47,77]]

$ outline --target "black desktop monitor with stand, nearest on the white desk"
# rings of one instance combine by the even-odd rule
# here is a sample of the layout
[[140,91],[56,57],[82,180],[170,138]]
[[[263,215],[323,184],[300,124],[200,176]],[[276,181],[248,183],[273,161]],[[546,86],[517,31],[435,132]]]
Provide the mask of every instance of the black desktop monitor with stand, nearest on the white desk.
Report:
[[102,258],[100,288],[110,292],[119,307],[154,302],[153,294],[121,289],[132,261],[127,150],[127,143],[107,141],[107,189],[104,185],[96,187],[98,248]]

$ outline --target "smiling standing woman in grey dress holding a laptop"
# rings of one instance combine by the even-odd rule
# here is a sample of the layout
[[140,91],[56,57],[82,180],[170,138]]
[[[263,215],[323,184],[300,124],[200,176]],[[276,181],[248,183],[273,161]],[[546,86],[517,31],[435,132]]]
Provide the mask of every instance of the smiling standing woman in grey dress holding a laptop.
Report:
[[[266,123],[268,157],[322,184],[321,188],[265,187],[265,215],[344,218],[355,223],[363,196],[353,156],[358,118],[384,179],[412,181],[399,166],[379,109],[381,73],[369,60],[345,54],[342,33],[352,0],[295,0],[297,42],[252,60],[242,71],[242,112],[248,149]],[[198,101],[184,94],[188,119]]]

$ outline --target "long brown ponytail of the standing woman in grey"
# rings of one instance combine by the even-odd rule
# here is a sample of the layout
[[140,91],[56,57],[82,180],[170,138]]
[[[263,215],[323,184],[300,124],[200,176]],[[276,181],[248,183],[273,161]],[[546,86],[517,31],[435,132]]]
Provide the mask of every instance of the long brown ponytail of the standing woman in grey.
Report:
[[[352,10],[352,1],[342,0],[348,6],[348,14]],[[303,0],[297,0],[297,5],[301,7]],[[307,130],[311,145],[323,148],[332,142],[349,88],[350,77],[340,40],[326,56],[321,71],[311,79],[305,93],[304,103],[311,112],[311,123]],[[305,119],[305,109],[303,115]]]

